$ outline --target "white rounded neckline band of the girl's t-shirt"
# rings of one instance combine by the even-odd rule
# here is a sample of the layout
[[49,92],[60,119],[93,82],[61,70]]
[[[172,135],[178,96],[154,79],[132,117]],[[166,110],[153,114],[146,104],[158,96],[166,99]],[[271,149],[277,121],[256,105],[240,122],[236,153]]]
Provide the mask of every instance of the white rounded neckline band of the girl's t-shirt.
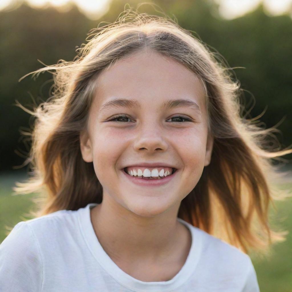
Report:
[[199,228],[192,226],[190,223],[180,218],[177,218],[178,221],[180,221],[190,230],[192,235],[192,244],[185,264],[171,280],[144,282],[135,279],[134,277],[121,270],[121,268],[114,263],[114,261],[108,256],[108,254],[100,245],[98,238],[95,235],[90,218],[90,208],[93,208],[93,206],[96,205],[98,204],[90,203],[86,207],[80,208],[78,210],[81,233],[86,241],[88,248],[100,266],[122,286],[131,289],[132,291],[138,292],[168,292],[173,291],[174,289],[177,289],[179,286],[184,284],[187,279],[194,273],[202,249],[202,233],[198,232],[200,230]]

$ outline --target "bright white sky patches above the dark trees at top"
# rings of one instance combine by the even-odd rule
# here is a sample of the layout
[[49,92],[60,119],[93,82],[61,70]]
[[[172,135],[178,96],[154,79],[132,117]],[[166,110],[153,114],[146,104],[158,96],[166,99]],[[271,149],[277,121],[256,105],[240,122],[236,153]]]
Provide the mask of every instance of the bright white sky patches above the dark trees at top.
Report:
[[[11,6],[18,6],[23,1],[32,7],[55,6],[60,11],[70,9],[68,5],[70,0],[0,0],[0,10]],[[75,2],[79,10],[88,18],[97,20],[109,9],[110,0],[71,0]],[[183,0],[181,0],[183,1]],[[292,0],[214,0],[220,6],[220,14],[227,19],[237,18],[256,8],[260,2],[263,2],[265,10],[270,15],[280,15],[290,11],[292,18]],[[141,1],[142,2],[142,1]],[[125,1],[125,3],[127,3]],[[155,0],[154,0],[155,3]]]

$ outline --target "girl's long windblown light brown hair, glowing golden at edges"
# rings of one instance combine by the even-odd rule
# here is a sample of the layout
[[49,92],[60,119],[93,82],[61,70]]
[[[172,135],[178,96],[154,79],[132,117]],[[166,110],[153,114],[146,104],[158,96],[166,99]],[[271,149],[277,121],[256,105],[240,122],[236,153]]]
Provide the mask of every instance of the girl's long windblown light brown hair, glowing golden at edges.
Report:
[[267,138],[277,141],[272,133],[278,130],[260,128],[261,116],[243,115],[239,81],[232,79],[223,58],[191,32],[166,16],[125,9],[114,23],[91,29],[87,44],[77,48],[73,61],[44,64],[29,73],[38,77],[48,71],[54,81],[51,96],[33,111],[16,103],[36,117],[32,131],[24,132],[32,140],[24,162],[30,164],[32,177],[13,187],[16,194],[38,193],[33,201],[39,209],[31,214],[39,217],[102,202],[93,163],[82,159],[79,144],[96,79],[119,59],[150,50],[178,60],[199,77],[206,96],[208,131],[214,137],[211,162],[181,201],[178,217],[245,253],[254,249],[267,254],[272,243],[285,240],[287,231],[270,228],[268,207],[289,196],[275,186],[283,174],[272,159],[280,161],[292,150],[269,145]]

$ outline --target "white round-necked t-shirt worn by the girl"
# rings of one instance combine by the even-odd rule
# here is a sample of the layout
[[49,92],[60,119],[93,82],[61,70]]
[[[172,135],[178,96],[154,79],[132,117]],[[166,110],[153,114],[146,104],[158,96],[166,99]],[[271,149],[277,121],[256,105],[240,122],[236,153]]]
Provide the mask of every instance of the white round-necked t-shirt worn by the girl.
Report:
[[96,205],[16,224],[0,245],[0,291],[260,291],[248,255],[180,218],[191,231],[192,245],[178,274],[159,282],[131,277],[98,242],[89,210]]

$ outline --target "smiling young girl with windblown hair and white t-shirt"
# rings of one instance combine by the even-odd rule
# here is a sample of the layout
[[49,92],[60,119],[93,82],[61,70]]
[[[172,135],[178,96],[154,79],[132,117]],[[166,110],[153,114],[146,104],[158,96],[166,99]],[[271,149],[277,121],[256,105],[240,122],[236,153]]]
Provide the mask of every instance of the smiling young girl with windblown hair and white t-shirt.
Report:
[[91,36],[31,72],[56,70],[50,100],[18,103],[37,119],[14,190],[46,201],[1,244],[1,291],[259,291],[248,251],[284,239],[269,159],[292,150],[263,149],[238,82],[170,19],[126,10]]

